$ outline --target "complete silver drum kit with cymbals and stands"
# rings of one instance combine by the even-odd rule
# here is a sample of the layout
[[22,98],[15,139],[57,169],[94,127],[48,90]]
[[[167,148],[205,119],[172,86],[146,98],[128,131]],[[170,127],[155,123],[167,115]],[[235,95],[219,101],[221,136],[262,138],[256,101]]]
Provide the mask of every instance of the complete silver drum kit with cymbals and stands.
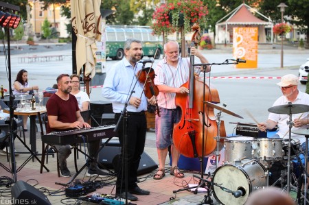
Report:
[[[220,110],[220,113],[222,111],[235,117],[240,117],[238,114],[216,104],[211,104],[210,102],[205,102],[205,104]],[[306,196],[306,176],[308,176],[308,173],[306,172],[307,152],[305,152],[306,167],[304,167],[299,159],[299,154],[301,154],[301,144],[299,143],[299,140],[291,138],[292,133],[304,135],[306,137],[306,150],[308,150],[309,128],[292,131],[292,114],[308,111],[309,106],[307,105],[290,103],[283,106],[274,106],[268,109],[268,112],[288,114],[288,140],[282,140],[282,138],[253,138],[249,136],[232,136],[225,138],[225,162],[218,167],[218,160],[216,160],[216,170],[211,176],[211,182],[205,180],[211,184],[214,197],[220,202],[220,204],[245,204],[249,195],[253,191],[263,189],[266,186],[275,186],[278,181],[282,182],[282,189],[287,193],[290,193],[291,186],[300,191],[301,187],[293,186],[295,184],[297,185],[297,182],[294,184],[291,184],[290,182],[292,175],[293,179],[296,181],[295,173],[291,173],[291,168],[295,169],[295,167],[293,167],[295,160],[293,160],[292,163],[292,158],[298,158],[301,167],[303,168],[301,173],[304,171],[304,174],[299,174],[299,177],[304,178],[304,195],[302,193],[300,195],[304,197],[304,204],[307,202],[309,203]],[[219,117],[217,123],[220,123],[220,114],[217,114],[216,117]],[[218,143],[220,137],[216,138]],[[274,184],[269,184],[269,178],[273,177],[271,176],[272,173],[270,170],[275,162],[281,163],[283,165],[282,169],[284,170],[280,171],[281,174],[278,176],[278,179],[275,180]],[[298,184],[298,186],[301,185]],[[299,202],[301,196],[297,195]]]

